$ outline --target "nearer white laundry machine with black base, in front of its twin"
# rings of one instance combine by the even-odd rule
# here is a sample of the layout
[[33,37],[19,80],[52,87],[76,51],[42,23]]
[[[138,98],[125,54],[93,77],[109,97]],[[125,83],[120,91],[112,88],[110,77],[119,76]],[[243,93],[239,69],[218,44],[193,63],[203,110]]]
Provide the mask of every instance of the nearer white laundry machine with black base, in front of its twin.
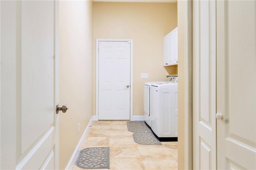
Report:
[[151,130],[160,141],[178,141],[178,77],[150,86]]

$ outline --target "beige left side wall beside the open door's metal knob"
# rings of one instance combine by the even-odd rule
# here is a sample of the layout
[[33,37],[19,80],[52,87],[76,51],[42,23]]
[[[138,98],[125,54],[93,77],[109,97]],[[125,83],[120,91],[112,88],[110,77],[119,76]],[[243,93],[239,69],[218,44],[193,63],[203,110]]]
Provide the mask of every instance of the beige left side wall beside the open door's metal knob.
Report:
[[[60,1],[60,169],[92,118],[92,1]],[[80,122],[80,133],[78,133]]]

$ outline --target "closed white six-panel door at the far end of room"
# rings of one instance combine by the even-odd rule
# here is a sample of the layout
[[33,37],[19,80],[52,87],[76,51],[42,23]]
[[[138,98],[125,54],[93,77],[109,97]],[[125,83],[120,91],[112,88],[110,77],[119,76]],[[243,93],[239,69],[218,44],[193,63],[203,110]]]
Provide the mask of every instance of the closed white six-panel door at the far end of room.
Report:
[[130,120],[130,45],[99,41],[99,120]]

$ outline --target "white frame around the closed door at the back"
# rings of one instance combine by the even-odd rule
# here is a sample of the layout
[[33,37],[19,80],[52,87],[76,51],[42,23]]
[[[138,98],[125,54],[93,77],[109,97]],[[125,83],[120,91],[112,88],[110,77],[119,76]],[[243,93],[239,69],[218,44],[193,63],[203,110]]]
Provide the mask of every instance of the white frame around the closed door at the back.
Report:
[[99,42],[130,42],[130,120],[133,117],[133,39],[96,39],[96,119],[99,120]]

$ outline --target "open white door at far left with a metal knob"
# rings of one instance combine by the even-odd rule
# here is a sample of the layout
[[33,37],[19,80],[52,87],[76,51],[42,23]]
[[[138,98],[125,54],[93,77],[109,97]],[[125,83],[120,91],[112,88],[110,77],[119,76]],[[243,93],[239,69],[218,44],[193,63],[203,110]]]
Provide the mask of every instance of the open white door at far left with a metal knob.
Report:
[[55,23],[58,2],[1,2],[0,169],[58,169]]

